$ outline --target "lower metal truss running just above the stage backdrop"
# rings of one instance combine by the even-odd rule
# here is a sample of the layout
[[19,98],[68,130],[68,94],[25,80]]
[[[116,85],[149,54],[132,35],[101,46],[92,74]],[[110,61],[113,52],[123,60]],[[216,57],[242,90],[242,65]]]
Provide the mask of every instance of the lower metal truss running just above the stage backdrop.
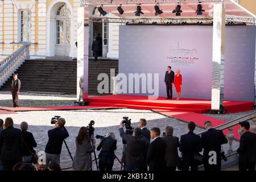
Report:
[[[105,22],[105,23],[153,23],[156,22],[158,24],[168,24],[168,23],[212,23],[212,18],[105,18],[105,17],[90,17],[89,22]],[[233,15],[226,15],[226,22],[233,22],[233,23],[249,23],[255,24],[255,18],[250,17],[243,17],[243,16],[233,16]]]

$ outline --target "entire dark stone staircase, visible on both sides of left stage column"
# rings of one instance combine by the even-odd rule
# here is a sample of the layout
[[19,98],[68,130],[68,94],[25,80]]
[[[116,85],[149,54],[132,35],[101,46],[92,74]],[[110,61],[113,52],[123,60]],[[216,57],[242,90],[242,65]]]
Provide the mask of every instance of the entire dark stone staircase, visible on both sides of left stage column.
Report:
[[[97,80],[97,76],[100,73],[106,73],[110,77],[111,68],[115,69],[115,75],[117,75],[118,61],[89,60],[89,95],[100,95],[97,86],[101,80]],[[22,82],[20,92],[76,94],[76,60],[57,60],[50,57],[26,60],[15,73],[19,73],[18,78]],[[11,80],[12,77],[1,86],[0,90],[10,91]]]

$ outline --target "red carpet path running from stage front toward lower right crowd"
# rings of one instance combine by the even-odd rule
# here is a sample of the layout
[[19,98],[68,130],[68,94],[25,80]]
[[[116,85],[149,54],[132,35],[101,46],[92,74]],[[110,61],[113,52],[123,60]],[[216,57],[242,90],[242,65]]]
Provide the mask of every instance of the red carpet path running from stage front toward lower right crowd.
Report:
[[[226,121],[217,119],[217,118],[212,118],[208,117],[207,115],[203,114],[197,114],[197,113],[192,113],[192,112],[179,112],[179,111],[166,111],[166,110],[154,110],[156,113],[166,115],[168,117],[174,117],[177,119],[180,119],[181,121],[184,122],[190,122],[193,121],[196,123],[197,126],[203,127],[204,128],[204,122],[205,121],[211,121],[213,123],[213,127],[221,125],[223,123],[226,123]],[[240,140],[240,135],[238,134],[238,129],[240,128],[239,125],[234,126],[233,133],[234,133],[234,138],[237,140]],[[228,134],[229,130],[223,130],[223,133],[226,135]]]

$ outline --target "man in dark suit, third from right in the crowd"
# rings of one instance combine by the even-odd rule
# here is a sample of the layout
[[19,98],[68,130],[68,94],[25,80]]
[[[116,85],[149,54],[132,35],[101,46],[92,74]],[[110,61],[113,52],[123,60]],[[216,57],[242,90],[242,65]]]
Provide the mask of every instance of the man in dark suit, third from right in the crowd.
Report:
[[191,167],[191,171],[198,171],[198,163],[195,160],[195,154],[202,151],[201,138],[199,135],[193,133],[196,128],[194,122],[188,123],[188,133],[181,135],[180,137],[180,152],[183,155],[182,171],[188,171]]

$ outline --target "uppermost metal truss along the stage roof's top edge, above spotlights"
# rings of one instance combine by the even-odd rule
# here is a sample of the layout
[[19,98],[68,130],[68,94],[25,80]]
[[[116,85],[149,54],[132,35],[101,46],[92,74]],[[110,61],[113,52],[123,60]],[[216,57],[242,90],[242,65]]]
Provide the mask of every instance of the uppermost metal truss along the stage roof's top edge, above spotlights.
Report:
[[[200,2],[221,2],[222,0],[200,0]],[[199,0],[81,0],[81,7],[87,5],[129,5],[154,3],[189,3]]]

